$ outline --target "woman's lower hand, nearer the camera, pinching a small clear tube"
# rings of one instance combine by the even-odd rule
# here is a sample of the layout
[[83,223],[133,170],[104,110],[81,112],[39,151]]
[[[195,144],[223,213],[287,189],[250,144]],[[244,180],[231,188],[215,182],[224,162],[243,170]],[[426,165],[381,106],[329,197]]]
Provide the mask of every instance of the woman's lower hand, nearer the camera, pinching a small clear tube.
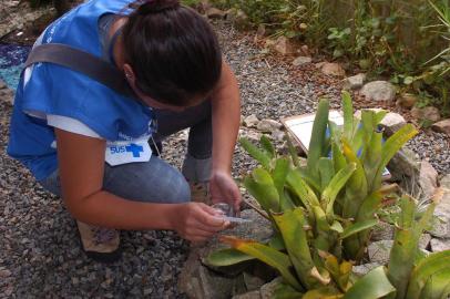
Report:
[[205,204],[182,204],[173,215],[173,226],[182,238],[202,243],[229,226],[229,221],[221,218],[221,215]]

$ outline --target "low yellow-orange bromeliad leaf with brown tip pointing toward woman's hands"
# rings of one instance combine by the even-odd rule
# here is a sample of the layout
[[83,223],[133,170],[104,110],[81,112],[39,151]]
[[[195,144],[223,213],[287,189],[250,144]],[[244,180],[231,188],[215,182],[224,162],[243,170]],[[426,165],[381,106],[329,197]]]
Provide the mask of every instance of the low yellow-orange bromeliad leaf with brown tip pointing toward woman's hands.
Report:
[[287,255],[279,252],[266,245],[253,240],[238,239],[231,236],[221,237],[221,241],[231,245],[233,248],[250,255],[260,261],[274,267],[279,271],[283,278],[296,290],[303,291],[301,285],[290,272],[293,264]]

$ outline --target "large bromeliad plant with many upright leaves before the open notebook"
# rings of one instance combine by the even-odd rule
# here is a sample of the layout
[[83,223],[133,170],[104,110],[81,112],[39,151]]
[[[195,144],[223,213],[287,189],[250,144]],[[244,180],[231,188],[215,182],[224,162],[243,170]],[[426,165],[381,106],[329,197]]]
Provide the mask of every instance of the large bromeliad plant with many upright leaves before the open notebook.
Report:
[[[260,259],[288,283],[280,293],[294,298],[299,293],[304,298],[360,298],[360,290],[380,298],[393,291],[382,268],[355,282],[348,260],[362,258],[370,228],[378,223],[381,199],[396,187],[381,186],[387,163],[417,132],[406,125],[383,142],[378,126],[386,112],[364,111],[359,121],[354,117],[348,93],[342,95],[342,107],[340,128],[328,122],[328,101],[320,101],[305,167],[293,146],[290,157],[278,157],[267,137],[262,137],[260,147],[241,141],[262,165],[244,185],[276,234],[268,244],[224,237],[222,241],[239,252],[214,252],[208,264]],[[377,287],[370,290],[370,286]]]

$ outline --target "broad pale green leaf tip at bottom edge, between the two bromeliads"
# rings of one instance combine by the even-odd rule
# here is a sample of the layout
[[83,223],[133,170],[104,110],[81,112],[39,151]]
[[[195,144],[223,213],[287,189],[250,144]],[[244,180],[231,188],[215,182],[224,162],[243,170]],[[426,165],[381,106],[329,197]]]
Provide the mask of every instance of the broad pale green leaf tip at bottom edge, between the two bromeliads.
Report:
[[395,291],[396,289],[389,282],[385,268],[381,266],[357,280],[344,299],[377,299]]

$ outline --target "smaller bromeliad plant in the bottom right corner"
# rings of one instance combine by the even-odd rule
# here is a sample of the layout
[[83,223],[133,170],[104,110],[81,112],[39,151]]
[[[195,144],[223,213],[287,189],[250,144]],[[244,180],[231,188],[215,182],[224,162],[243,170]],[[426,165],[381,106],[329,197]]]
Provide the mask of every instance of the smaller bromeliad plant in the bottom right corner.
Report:
[[434,206],[442,195],[443,190],[439,189],[421,216],[412,198],[401,198],[401,215],[397,221],[388,265],[388,277],[397,291],[388,299],[450,297],[450,250],[434,252],[428,257],[423,257],[418,250],[420,236],[429,226]]

